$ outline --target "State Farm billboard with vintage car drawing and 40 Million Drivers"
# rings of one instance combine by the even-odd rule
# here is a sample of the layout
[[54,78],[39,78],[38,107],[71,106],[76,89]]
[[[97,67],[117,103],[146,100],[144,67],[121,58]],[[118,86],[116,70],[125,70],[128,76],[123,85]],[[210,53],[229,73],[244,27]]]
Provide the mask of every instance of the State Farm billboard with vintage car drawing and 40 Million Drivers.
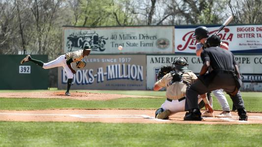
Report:
[[[63,52],[90,45],[97,54],[173,53],[174,26],[63,27]],[[122,50],[118,50],[122,46]]]

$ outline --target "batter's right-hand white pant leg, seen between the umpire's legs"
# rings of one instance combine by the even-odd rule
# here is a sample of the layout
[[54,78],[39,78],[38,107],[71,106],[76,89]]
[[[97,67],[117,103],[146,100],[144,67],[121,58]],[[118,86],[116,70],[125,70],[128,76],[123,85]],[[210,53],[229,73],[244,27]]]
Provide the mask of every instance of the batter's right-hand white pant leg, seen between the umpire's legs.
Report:
[[214,90],[214,91],[212,91],[212,93],[217,98],[217,100],[219,101],[220,106],[222,107],[222,110],[223,111],[230,111],[230,106],[229,106],[229,103],[228,103],[226,96],[223,93],[223,89]]

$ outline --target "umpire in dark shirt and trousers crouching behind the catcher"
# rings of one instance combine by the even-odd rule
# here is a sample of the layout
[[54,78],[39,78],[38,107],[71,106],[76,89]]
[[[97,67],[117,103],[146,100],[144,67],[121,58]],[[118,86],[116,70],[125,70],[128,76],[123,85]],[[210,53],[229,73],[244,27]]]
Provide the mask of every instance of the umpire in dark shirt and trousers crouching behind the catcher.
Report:
[[[230,95],[237,109],[239,121],[247,121],[244,101],[239,91],[242,82],[233,53],[219,47],[220,38],[217,35],[208,37],[206,45],[207,48],[201,53],[204,65],[199,73],[200,80],[193,83],[186,91],[189,112],[186,113],[184,121],[201,121],[198,95],[217,89],[223,89]],[[205,74],[209,66],[212,67],[213,71]]]

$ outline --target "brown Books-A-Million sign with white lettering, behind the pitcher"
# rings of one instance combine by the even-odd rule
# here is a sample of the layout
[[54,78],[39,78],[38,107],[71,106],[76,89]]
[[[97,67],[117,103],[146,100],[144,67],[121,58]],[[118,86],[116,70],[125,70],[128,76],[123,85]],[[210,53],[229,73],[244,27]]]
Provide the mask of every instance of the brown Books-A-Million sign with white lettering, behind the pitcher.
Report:
[[[146,90],[146,55],[88,55],[83,69],[72,68],[71,89]],[[66,89],[67,76],[58,68],[58,89]]]

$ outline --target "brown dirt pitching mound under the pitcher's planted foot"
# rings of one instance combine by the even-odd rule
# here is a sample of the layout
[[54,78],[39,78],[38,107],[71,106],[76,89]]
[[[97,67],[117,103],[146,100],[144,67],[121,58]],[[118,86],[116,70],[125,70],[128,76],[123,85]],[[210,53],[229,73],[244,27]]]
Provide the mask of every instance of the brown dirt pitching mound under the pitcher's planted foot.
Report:
[[116,98],[158,98],[152,96],[131,96],[120,94],[101,94],[90,92],[70,92],[71,96],[65,96],[65,92],[19,92],[0,93],[2,98],[70,98],[81,100],[109,100]]

